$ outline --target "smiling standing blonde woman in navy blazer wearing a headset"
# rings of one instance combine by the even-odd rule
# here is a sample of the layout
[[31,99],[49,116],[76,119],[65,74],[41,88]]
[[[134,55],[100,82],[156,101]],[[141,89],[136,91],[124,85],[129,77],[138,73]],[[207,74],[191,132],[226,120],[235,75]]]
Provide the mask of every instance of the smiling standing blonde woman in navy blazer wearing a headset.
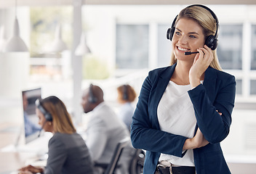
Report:
[[172,23],[172,65],[148,73],[132,117],[132,144],[147,150],[144,173],[231,173],[220,142],[231,126],[236,81],[218,64],[217,28],[202,5]]

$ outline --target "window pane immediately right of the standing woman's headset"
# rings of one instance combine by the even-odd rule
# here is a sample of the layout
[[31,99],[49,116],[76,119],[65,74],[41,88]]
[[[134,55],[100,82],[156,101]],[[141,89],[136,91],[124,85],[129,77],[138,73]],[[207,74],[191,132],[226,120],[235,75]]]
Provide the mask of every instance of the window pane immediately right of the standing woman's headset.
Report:
[[241,70],[242,25],[220,25],[217,56],[225,70]]

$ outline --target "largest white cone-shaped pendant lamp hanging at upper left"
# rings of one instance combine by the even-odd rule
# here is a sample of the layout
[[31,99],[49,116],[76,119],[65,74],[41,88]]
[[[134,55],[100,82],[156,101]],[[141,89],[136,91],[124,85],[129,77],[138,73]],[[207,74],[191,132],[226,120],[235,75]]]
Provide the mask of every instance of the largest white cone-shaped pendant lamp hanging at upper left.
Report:
[[15,1],[15,23],[13,26],[12,37],[9,38],[7,44],[4,48],[6,52],[16,52],[16,51],[28,51],[28,47],[25,45],[25,42],[20,38],[20,27],[19,22],[17,21],[17,0]]

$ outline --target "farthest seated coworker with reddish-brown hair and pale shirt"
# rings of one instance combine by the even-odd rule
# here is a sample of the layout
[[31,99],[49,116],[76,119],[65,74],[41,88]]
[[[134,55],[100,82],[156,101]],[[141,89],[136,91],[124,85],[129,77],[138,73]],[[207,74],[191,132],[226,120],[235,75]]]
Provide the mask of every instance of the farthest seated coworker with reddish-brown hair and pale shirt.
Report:
[[122,85],[117,88],[118,96],[117,101],[121,104],[118,116],[123,120],[130,130],[132,124],[132,115],[135,111],[135,107],[132,105],[132,101],[135,101],[136,93],[132,86]]

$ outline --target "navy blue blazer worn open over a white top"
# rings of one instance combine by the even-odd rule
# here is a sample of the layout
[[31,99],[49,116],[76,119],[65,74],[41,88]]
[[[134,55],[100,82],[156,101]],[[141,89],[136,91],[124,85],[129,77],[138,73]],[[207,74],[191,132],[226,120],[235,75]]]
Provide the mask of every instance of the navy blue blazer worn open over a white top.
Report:
[[[157,118],[159,101],[175,67],[176,64],[148,73],[132,117],[132,145],[147,150],[145,174],[154,173],[161,153],[183,157],[183,145],[187,137],[161,131]],[[220,141],[229,133],[235,94],[235,77],[212,67],[207,68],[204,83],[188,91],[197,120],[195,133],[199,127],[204,138],[209,141],[207,146],[193,149],[197,174],[231,173],[223,157]]]

